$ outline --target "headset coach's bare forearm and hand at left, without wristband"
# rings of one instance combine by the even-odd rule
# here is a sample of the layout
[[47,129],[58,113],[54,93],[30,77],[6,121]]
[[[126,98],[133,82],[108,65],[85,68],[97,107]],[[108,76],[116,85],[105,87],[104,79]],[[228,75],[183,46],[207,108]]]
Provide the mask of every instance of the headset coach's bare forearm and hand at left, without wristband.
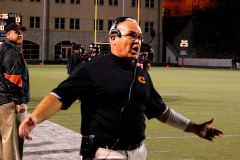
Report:
[[62,102],[56,96],[52,94],[46,96],[33,113],[20,124],[19,136],[31,140],[29,133],[36,127],[37,123],[41,123],[53,116],[62,106]]

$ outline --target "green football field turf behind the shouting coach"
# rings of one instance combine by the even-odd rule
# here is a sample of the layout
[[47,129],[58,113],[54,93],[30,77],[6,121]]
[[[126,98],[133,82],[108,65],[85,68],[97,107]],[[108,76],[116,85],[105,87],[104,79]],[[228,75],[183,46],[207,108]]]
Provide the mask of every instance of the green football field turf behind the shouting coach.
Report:
[[[68,75],[63,65],[30,65],[29,73],[31,113]],[[224,135],[209,142],[156,119],[146,120],[148,160],[240,159],[240,70],[156,67],[149,73],[166,105],[196,123],[215,117],[212,125]],[[50,121],[80,133],[80,102],[58,112]]]

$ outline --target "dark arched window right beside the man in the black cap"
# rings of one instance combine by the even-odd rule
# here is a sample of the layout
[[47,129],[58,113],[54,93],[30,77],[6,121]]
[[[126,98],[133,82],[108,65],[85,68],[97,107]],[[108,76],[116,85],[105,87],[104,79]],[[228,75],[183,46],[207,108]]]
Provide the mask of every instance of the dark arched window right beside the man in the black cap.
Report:
[[22,52],[25,59],[39,59],[39,45],[37,43],[23,40]]

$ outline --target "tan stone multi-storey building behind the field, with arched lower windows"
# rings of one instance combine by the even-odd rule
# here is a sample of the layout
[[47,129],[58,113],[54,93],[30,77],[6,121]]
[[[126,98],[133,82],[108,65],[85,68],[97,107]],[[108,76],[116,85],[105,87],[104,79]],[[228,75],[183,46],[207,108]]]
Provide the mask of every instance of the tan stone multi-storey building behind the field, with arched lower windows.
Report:
[[[94,43],[95,2],[96,42],[108,42],[108,31],[117,17],[138,19],[138,0],[1,0],[0,13],[21,15],[21,23],[27,27],[21,49],[28,62],[42,59],[54,62],[60,54],[67,60],[74,44],[81,44],[88,50],[89,44]],[[162,61],[160,13],[162,0],[140,0],[139,24],[144,41],[151,40],[151,30],[156,31],[156,38],[149,44],[153,48],[154,62]],[[4,36],[0,37],[2,39]]]

